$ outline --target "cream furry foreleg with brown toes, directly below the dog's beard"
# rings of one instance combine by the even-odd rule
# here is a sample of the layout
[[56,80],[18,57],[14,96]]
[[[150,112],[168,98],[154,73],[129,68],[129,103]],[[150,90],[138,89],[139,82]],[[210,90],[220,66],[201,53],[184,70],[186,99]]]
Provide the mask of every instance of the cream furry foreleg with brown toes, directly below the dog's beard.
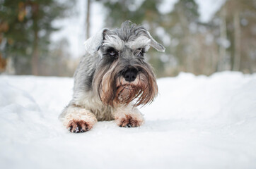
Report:
[[128,105],[117,108],[113,112],[115,122],[120,127],[139,127],[144,123],[144,117],[138,108]]

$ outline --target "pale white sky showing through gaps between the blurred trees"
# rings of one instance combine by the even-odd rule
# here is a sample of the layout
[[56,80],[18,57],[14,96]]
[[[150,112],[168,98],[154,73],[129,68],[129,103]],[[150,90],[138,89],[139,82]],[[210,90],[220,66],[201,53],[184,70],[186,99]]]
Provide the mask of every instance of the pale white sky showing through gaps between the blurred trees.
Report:
[[[143,1],[143,0],[141,0]],[[164,0],[161,6],[162,13],[168,13],[173,10],[174,4],[178,0]],[[214,13],[221,7],[225,0],[195,0],[199,5],[200,21],[208,22]],[[72,57],[78,58],[84,54],[83,42],[85,41],[85,18],[86,18],[86,1],[78,0],[75,6],[76,15],[57,20],[54,25],[62,27],[62,30],[52,35],[54,42],[66,38],[69,42],[69,51]],[[94,35],[104,26],[106,11],[98,2],[93,2],[91,6],[91,35]],[[139,23],[137,23],[139,24]]]

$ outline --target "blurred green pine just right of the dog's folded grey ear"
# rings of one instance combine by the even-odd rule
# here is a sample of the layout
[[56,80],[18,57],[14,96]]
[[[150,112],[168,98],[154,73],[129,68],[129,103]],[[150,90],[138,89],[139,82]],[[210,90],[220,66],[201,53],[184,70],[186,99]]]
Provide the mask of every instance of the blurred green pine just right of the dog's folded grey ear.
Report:
[[197,54],[194,41],[199,20],[197,8],[194,0],[180,0],[175,4],[173,11],[165,16],[168,20],[165,29],[173,41],[176,41],[176,44],[170,46],[170,54],[177,59],[179,71],[194,72],[193,60],[197,58],[193,55]]

